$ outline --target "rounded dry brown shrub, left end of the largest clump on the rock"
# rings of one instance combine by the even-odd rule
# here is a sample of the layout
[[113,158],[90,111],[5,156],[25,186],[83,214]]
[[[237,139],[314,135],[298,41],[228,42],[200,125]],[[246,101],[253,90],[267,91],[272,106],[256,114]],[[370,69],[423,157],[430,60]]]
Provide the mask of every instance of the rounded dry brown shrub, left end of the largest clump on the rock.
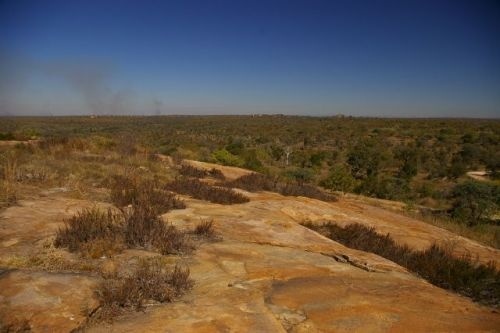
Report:
[[123,244],[122,218],[111,209],[85,209],[64,221],[56,233],[54,245],[81,251],[92,257],[120,251]]

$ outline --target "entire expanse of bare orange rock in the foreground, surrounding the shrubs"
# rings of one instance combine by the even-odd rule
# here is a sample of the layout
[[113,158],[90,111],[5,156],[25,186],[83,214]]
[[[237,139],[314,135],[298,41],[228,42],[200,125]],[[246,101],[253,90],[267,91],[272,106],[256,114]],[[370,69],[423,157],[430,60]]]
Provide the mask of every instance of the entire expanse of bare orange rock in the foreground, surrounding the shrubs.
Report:
[[[235,177],[238,170],[231,172]],[[203,242],[193,254],[179,259],[191,269],[195,280],[191,292],[177,302],[151,305],[144,312],[86,330],[498,331],[496,310],[434,287],[386,259],[346,248],[298,222],[364,223],[414,248],[452,242],[457,254],[468,252],[481,261],[498,262],[498,250],[354,201],[324,203],[275,193],[245,194],[249,203],[231,206],[185,197],[186,209],[163,215],[180,228],[213,219],[222,239]],[[66,332],[80,327],[95,309],[93,286],[98,277],[90,269],[85,273],[76,256],[49,245],[65,217],[93,204],[53,193],[0,213],[0,265],[6,267],[0,275],[1,318],[24,316],[34,331]],[[97,263],[112,266],[143,255],[152,254],[129,250]],[[51,260],[82,273],[61,273]],[[47,272],[54,265],[54,272]]]

